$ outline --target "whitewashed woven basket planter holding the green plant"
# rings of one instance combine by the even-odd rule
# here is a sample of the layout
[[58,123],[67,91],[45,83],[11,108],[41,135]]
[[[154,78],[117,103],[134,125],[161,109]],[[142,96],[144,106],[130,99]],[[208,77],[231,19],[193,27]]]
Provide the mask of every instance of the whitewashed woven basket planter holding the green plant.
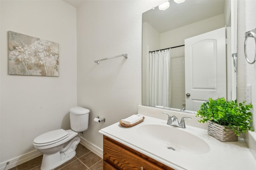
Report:
[[218,139],[222,142],[233,142],[237,141],[238,137],[234,133],[233,129],[225,128],[226,126],[219,125],[212,121],[207,121],[208,124],[208,135]]

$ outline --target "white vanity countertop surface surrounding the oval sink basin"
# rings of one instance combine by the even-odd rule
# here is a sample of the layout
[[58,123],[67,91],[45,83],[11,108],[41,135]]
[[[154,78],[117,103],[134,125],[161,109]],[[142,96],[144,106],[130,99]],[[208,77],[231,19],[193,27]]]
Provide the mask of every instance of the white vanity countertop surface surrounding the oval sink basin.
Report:
[[[166,120],[146,115],[144,117],[144,121],[133,127],[122,127],[117,122],[99,132],[176,170],[256,170],[256,160],[242,140],[220,142],[208,135],[206,129],[189,125],[182,129],[167,125]],[[196,135],[210,146],[210,150],[204,154],[192,154],[158,147],[154,141],[146,140],[137,133],[138,127],[147,124],[179,128],[179,130]]]

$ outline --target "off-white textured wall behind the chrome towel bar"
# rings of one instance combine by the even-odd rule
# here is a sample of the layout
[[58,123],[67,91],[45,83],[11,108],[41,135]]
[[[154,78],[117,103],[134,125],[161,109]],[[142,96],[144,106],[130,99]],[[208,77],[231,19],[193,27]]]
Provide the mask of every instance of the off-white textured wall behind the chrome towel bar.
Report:
[[[86,1],[77,9],[78,105],[90,109],[82,135],[103,147],[100,129],[138,113],[142,85],[142,13],[161,1]],[[128,53],[124,57],[104,59]],[[105,123],[93,121],[97,115]]]

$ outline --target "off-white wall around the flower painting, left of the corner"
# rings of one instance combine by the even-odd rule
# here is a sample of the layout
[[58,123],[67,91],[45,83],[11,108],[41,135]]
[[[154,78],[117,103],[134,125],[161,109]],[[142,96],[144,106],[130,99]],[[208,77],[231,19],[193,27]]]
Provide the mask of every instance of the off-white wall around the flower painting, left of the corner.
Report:
[[[60,0],[1,0],[0,162],[34,150],[42,133],[70,129],[77,106],[76,8]],[[59,43],[60,76],[8,74],[8,31]]]

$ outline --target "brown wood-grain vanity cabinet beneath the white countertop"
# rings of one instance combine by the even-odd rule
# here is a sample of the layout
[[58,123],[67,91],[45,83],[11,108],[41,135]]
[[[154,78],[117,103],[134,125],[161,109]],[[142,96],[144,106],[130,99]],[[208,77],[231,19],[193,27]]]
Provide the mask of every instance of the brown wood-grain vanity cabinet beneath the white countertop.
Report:
[[104,135],[104,170],[174,170]]

